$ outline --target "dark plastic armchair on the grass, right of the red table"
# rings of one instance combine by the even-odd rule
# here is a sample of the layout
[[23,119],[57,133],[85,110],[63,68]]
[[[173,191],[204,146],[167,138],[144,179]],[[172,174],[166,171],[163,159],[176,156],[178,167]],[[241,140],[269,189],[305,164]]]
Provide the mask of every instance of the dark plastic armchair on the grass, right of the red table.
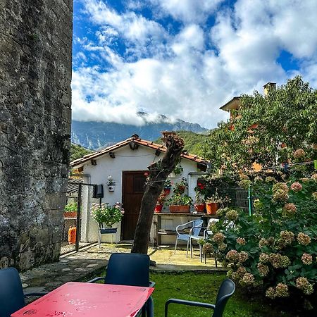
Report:
[[229,278],[227,278],[220,285],[220,289],[218,291],[218,295],[216,299],[216,305],[201,303],[201,302],[186,301],[184,299],[175,299],[175,298],[168,299],[168,301],[165,304],[165,317],[168,317],[169,304],[181,304],[181,305],[187,305],[187,306],[197,306],[197,307],[213,309],[213,314],[211,315],[212,317],[222,317],[223,311],[225,310],[225,305],[227,304],[228,299],[232,296],[234,292],[235,292],[235,283]]

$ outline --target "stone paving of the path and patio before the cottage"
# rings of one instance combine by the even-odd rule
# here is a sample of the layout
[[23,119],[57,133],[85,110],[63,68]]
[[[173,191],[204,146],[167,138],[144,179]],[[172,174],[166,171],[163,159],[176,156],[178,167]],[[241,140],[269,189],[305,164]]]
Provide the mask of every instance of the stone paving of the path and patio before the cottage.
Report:
[[[49,292],[70,281],[88,279],[104,271],[112,253],[130,252],[131,244],[101,244],[82,249],[77,253],[61,256],[57,263],[49,263],[20,274],[24,292]],[[213,259],[207,263],[199,260],[199,250],[194,251],[193,259],[186,258],[186,251],[172,248],[149,248],[151,260],[156,261],[153,271],[223,271],[216,268]]]

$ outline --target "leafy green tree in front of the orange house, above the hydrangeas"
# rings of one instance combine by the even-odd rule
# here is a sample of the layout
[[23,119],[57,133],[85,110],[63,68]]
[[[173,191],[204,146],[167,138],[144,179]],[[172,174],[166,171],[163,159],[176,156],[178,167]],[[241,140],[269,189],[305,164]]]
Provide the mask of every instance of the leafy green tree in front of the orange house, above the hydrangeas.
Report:
[[304,149],[305,160],[316,156],[317,90],[296,76],[271,89],[267,96],[242,95],[240,108],[227,122],[218,124],[202,150],[216,170],[244,170],[252,163],[274,166],[292,163],[296,149]]

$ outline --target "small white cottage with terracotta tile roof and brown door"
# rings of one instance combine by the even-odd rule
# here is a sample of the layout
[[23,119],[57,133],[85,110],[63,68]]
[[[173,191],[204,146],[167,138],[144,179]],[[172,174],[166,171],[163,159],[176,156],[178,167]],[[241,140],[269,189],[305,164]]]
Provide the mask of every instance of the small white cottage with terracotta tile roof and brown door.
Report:
[[[84,183],[104,186],[102,202],[109,204],[115,204],[116,201],[123,202],[125,216],[121,223],[114,225],[118,230],[113,242],[133,240],[144,194],[147,166],[159,161],[164,152],[166,152],[166,147],[162,144],[155,144],[135,135],[70,163],[71,168],[76,168],[83,173]],[[188,194],[194,199],[197,179],[206,171],[208,161],[197,155],[182,154],[180,164],[183,168],[182,174],[170,175],[169,178],[172,183],[178,182],[183,177],[187,178]],[[114,191],[108,191],[106,185],[108,176],[112,176],[116,182]],[[89,214],[89,206],[92,202],[89,201],[88,195],[83,197],[81,237],[82,240],[86,240],[85,242],[97,241],[98,226]],[[168,213],[166,207],[163,209],[164,212]],[[152,242],[153,237],[152,232]],[[109,242],[110,237],[103,235],[102,241]]]

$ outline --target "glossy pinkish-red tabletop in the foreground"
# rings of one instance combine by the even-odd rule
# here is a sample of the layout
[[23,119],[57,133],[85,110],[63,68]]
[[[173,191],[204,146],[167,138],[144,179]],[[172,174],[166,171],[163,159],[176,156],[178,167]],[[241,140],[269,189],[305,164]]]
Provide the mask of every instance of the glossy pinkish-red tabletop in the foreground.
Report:
[[134,317],[153,291],[153,287],[68,282],[11,317]]

